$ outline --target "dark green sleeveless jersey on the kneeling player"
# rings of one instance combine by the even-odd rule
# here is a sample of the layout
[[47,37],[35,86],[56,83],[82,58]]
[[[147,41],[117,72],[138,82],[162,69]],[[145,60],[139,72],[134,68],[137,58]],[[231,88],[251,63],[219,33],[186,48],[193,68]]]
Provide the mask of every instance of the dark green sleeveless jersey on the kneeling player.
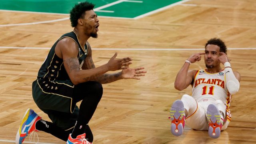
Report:
[[61,36],[50,49],[48,56],[44,60],[44,63],[42,64],[38,72],[38,79],[70,80],[64,68],[63,60],[55,54],[55,47],[57,43],[65,37],[72,38],[78,44],[79,52],[77,58],[79,60],[80,68],[82,68],[82,65],[84,64],[84,59],[87,56],[87,44],[84,47],[82,47],[78,41],[76,33],[69,32]]

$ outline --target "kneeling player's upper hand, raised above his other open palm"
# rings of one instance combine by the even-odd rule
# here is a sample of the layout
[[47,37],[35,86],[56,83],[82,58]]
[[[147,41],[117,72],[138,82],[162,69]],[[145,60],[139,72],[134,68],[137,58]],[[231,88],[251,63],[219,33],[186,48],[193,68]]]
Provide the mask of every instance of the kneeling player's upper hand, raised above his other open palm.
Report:
[[108,70],[109,71],[116,71],[116,70],[121,70],[121,69],[126,69],[129,64],[132,64],[132,58],[126,57],[126,58],[121,58],[117,59],[117,52],[110,58],[110,60],[107,63]]

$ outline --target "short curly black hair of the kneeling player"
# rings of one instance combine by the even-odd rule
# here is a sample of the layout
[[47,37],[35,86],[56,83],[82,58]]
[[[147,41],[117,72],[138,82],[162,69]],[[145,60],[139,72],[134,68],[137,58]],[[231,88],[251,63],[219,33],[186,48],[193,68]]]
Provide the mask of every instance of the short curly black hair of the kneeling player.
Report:
[[71,10],[70,10],[70,21],[71,26],[75,27],[78,22],[77,20],[79,18],[84,18],[85,12],[88,10],[93,10],[95,4],[92,4],[90,2],[79,2],[76,4]]

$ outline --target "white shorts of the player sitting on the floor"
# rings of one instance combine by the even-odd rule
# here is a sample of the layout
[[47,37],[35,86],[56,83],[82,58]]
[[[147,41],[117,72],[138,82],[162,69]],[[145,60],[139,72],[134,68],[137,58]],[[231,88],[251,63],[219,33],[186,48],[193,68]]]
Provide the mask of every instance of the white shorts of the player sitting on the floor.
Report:
[[[208,130],[208,121],[206,118],[207,107],[209,104],[215,104],[220,111],[223,112],[226,118],[226,105],[221,100],[207,100],[196,102],[192,96],[184,94],[181,98],[185,112],[186,112],[186,125],[195,130]],[[222,130],[228,127],[229,121],[226,120],[222,126]]]

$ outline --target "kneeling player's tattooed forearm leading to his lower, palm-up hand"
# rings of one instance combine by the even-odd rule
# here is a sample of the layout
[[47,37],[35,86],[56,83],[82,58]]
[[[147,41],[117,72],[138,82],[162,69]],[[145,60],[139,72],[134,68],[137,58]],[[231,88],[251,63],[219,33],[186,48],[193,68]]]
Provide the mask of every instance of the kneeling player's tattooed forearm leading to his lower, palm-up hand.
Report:
[[98,76],[95,81],[100,82],[101,84],[108,84],[110,82],[114,82],[116,80],[120,80],[122,77],[122,72],[114,73],[114,74],[103,74]]

